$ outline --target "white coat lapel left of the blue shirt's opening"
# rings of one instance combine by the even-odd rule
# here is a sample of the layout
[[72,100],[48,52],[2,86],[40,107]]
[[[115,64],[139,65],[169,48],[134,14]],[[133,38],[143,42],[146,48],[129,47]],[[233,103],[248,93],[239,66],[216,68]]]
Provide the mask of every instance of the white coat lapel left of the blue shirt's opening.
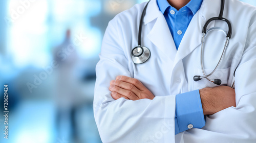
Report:
[[[156,19],[156,21],[154,19]],[[175,43],[172,34],[170,34],[167,22],[163,14],[159,11],[156,0],[151,1],[150,4],[148,4],[144,18],[145,25],[154,21],[155,23],[153,27],[149,28],[151,31],[148,33],[147,38],[167,55],[167,57],[174,61],[177,53]]]

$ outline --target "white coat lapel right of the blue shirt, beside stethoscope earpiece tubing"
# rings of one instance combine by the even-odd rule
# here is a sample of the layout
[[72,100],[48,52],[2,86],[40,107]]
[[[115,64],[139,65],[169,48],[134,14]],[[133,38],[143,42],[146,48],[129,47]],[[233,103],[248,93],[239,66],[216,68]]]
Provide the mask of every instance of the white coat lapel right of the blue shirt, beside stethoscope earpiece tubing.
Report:
[[[220,0],[203,1],[201,8],[190,21],[189,26],[181,40],[174,65],[193,52],[196,47],[201,47],[199,45],[201,45],[203,26],[206,20],[219,15],[220,5]],[[215,21],[212,21],[208,27],[212,27],[213,25],[215,25]]]

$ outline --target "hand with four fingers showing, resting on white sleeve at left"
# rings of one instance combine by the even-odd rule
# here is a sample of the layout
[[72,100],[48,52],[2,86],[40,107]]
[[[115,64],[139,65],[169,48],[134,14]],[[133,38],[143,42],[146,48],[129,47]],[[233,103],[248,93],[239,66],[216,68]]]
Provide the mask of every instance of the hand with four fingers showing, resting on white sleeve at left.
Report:
[[125,98],[127,100],[151,99],[155,96],[139,80],[118,76],[116,80],[110,82],[111,96],[117,100]]

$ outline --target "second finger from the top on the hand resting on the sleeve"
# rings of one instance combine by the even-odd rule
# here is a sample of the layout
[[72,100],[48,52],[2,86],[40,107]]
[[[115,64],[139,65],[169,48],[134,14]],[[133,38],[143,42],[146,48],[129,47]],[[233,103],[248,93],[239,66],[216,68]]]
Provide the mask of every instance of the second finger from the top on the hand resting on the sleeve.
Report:
[[140,90],[134,86],[133,84],[131,83],[127,83],[127,82],[124,82],[124,81],[120,81],[120,80],[112,80],[110,82],[111,85],[116,85],[120,88],[123,88],[123,89],[126,89],[126,90],[130,90],[132,91],[137,97],[139,97],[140,95]]

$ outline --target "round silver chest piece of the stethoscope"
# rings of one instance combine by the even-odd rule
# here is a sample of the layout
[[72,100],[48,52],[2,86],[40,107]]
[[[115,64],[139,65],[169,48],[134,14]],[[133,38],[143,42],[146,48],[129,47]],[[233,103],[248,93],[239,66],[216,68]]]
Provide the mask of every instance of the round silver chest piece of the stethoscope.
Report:
[[138,45],[132,50],[132,60],[135,64],[146,62],[150,55],[150,50],[145,46]]

